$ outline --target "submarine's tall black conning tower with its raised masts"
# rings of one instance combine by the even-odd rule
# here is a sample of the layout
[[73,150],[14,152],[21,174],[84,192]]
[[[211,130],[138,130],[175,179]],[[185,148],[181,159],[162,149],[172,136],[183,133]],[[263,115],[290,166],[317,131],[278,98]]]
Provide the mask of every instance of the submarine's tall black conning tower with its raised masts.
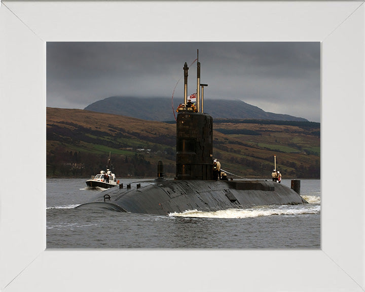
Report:
[[[212,179],[213,118],[203,113],[200,101],[200,62],[197,62],[197,108],[188,102],[188,70],[184,65],[184,105],[178,107],[176,118],[176,179]],[[200,107],[201,105],[201,107]]]

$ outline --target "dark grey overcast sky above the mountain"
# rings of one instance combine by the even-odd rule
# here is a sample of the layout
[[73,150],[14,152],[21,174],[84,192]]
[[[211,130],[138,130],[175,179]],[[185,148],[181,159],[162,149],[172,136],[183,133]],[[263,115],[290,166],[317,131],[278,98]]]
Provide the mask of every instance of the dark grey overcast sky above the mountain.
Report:
[[[197,57],[204,99],[240,99],[320,122],[320,43],[47,43],[47,106],[85,108],[109,96],[184,101]],[[180,81],[179,81],[180,80]],[[196,91],[196,62],[188,94]]]

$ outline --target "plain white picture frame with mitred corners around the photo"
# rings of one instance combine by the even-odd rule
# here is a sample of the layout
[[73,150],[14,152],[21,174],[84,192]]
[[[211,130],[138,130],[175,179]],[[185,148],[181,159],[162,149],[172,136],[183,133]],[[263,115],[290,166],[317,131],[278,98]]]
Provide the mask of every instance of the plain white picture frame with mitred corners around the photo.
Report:
[[[363,3],[3,1],[0,290],[363,291]],[[57,41],[321,42],[320,250],[46,250],[46,42]]]

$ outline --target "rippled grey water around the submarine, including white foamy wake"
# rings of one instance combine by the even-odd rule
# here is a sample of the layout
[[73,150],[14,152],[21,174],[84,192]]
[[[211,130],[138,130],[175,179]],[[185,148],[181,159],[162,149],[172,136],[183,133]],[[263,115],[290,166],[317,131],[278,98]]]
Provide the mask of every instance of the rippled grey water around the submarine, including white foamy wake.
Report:
[[47,179],[47,248],[320,248],[320,180],[301,180],[310,204],[170,216],[74,209],[101,192],[85,181]]

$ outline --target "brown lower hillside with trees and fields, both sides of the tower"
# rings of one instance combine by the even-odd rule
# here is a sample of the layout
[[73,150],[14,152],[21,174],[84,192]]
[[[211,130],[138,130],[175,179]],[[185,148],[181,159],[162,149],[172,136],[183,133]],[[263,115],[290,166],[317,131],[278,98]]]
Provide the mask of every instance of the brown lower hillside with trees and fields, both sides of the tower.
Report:
[[[310,122],[216,120],[213,155],[243,177],[269,178],[276,155],[283,178],[319,178],[320,125]],[[47,107],[47,176],[89,177],[108,153],[117,177],[154,177],[162,160],[175,175],[176,127],[83,109]]]

